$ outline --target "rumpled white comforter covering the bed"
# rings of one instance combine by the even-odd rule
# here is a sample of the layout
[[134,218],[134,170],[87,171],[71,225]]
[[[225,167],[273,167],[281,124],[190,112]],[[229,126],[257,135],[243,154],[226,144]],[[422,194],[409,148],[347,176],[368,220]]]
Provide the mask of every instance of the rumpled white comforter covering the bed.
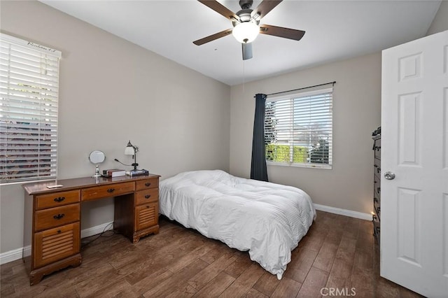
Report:
[[231,248],[281,278],[316,211],[296,187],[239,178],[225,171],[190,171],[162,180],[160,213]]

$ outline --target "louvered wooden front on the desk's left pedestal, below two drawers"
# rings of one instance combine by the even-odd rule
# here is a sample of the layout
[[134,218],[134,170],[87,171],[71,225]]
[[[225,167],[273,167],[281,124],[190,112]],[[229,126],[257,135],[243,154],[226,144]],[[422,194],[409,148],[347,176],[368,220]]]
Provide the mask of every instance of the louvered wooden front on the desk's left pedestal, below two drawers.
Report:
[[34,249],[35,268],[79,253],[79,222],[34,234]]

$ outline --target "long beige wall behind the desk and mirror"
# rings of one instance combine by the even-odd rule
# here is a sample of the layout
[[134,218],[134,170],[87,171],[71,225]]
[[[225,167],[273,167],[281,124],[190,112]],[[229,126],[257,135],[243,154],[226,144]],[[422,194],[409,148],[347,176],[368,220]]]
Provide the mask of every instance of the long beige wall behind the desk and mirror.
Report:
[[[230,87],[37,1],[1,1],[1,31],[62,51],[59,178],[90,176],[131,159],[166,178],[193,169],[229,169]],[[0,253],[22,247],[24,192],[0,190]],[[113,221],[111,200],[84,205],[82,229]]]

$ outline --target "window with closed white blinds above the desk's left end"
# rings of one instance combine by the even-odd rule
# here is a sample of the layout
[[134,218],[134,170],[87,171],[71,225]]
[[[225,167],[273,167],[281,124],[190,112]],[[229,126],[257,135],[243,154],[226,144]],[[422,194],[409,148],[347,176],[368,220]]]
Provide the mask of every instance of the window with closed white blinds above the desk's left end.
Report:
[[0,34],[0,183],[56,178],[60,57]]

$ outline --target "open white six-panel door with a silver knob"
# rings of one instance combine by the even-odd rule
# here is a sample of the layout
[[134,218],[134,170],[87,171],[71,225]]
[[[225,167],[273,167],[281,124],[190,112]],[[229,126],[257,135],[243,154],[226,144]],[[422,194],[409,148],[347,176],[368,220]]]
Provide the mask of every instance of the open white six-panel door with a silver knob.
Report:
[[384,50],[381,89],[381,276],[448,297],[448,31]]

